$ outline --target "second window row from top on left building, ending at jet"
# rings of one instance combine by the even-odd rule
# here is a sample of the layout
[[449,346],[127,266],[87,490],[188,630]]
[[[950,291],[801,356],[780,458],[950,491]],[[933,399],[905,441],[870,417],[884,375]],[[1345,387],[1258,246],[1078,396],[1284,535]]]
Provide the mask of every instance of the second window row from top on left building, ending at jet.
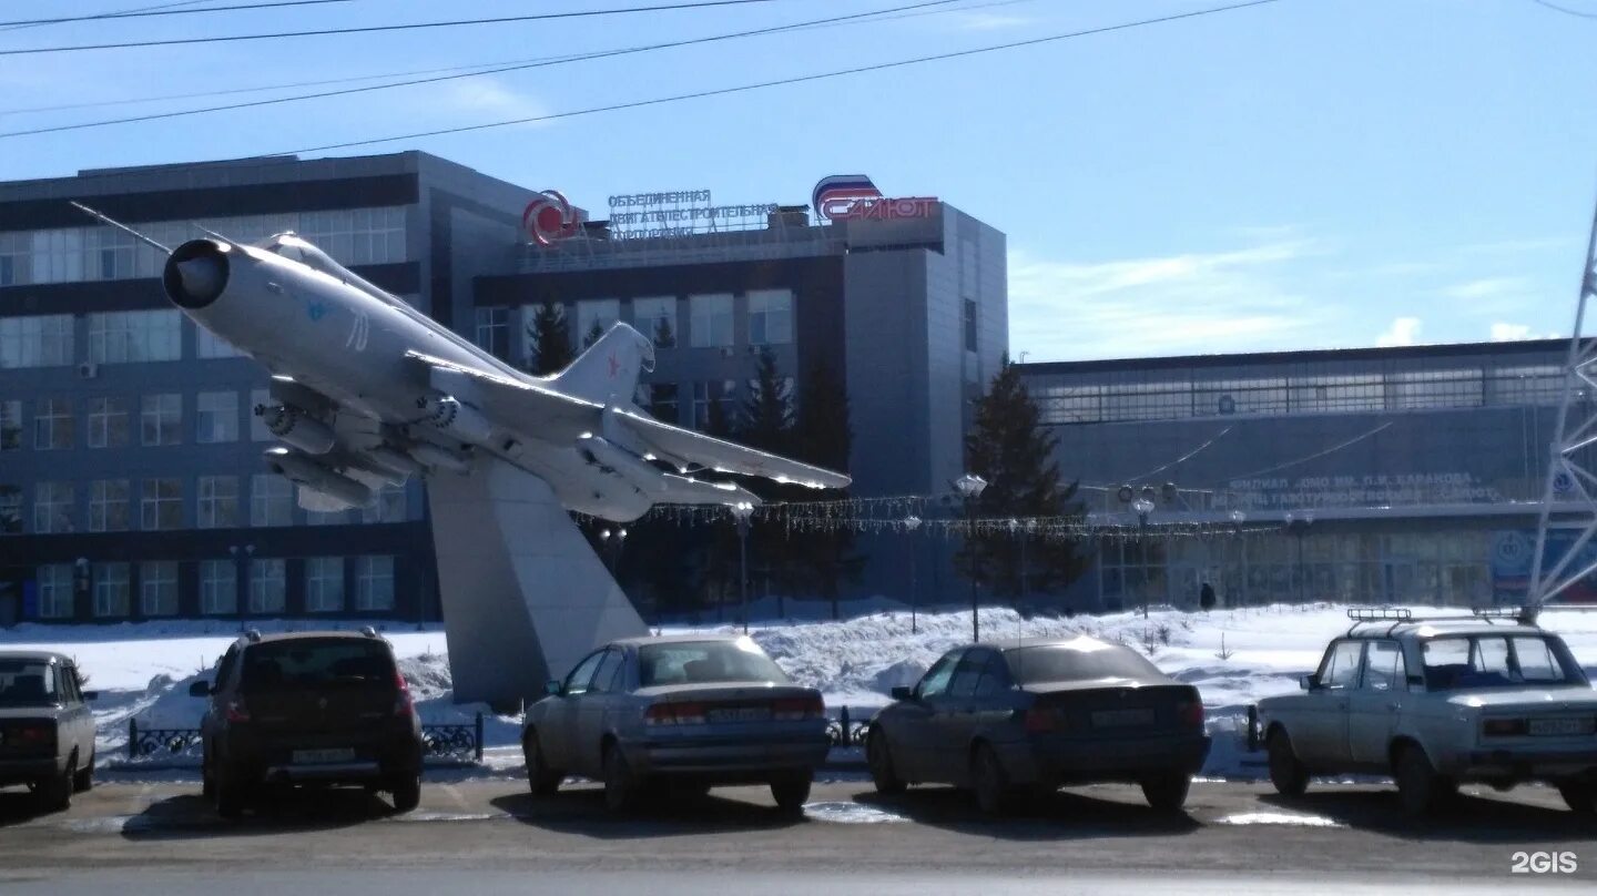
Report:
[[[96,311],[88,318],[88,358],[93,364],[180,361],[184,316],[176,308],[149,311]],[[77,363],[77,329],[72,315],[24,315],[0,318],[0,369],[62,367]],[[211,331],[195,327],[196,358],[238,358],[240,353]]]

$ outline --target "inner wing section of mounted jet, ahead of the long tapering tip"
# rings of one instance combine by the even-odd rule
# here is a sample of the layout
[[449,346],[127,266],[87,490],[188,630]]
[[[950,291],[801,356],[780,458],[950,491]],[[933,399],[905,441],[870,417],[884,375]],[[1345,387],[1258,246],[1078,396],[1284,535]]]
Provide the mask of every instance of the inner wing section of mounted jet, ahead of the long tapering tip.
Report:
[[540,439],[575,439],[597,430],[604,420],[604,406],[583,398],[420,351],[406,356],[428,367],[434,388],[478,406],[495,426]]

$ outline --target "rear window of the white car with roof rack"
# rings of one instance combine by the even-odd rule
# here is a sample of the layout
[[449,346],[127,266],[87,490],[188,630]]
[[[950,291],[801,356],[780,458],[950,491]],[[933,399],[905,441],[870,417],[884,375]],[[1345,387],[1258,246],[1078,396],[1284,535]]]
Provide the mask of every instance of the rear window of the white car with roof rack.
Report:
[[1584,684],[1579,668],[1555,637],[1437,637],[1425,642],[1423,655],[1426,690]]

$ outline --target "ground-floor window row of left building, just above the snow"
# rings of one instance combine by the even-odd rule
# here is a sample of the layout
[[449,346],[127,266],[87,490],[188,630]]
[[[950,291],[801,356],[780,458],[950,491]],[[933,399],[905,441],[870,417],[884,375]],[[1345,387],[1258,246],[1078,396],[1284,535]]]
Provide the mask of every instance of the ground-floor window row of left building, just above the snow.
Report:
[[[353,609],[383,613],[394,609],[394,557],[361,556],[353,562]],[[134,564],[102,562],[83,567],[83,580],[73,564],[48,564],[38,575],[38,618],[65,620],[77,616],[77,591],[93,601],[93,615],[101,620],[133,615]],[[145,561],[139,567],[137,607],[141,616],[176,616],[177,561]],[[200,561],[200,612],[208,616],[235,616],[240,607],[238,561]],[[287,609],[287,561],[251,557],[248,561],[249,615],[275,615]],[[345,580],[345,557],[308,557],[305,561],[305,612],[342,613],[350,602]]]

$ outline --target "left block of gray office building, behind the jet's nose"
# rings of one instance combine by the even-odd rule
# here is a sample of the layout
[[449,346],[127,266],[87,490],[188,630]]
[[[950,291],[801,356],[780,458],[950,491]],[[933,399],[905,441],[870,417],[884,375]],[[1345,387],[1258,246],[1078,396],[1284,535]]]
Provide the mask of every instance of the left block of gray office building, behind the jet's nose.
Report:
[[267,374],[196,329],[163,257],[295,230],[441,319],[527,190],[423,153],[83,171],[0,184],[0,624],[168,616],[436,616],[422,487],[302,511],[252,414]]

